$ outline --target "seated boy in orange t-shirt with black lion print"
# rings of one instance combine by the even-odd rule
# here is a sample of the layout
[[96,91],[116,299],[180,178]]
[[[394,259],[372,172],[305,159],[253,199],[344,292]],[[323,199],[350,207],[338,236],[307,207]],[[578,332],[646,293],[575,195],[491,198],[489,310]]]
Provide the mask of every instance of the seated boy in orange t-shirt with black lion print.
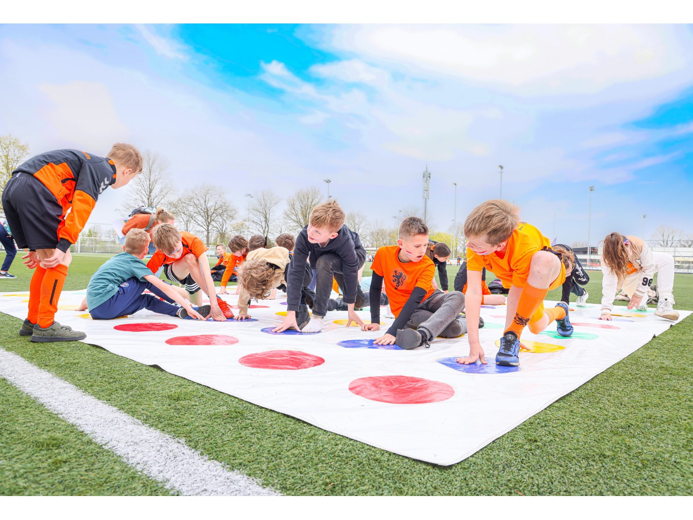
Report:
[[[380,302],[385,281],[385,294],[395,315],[377,345],[396,344],[405,350],[426,345],[436,336],[457,338],[466,331],[466,319],[459,315],[464,309],[464,295],[459,291],[443,293],[433,287],[435,264],[426,256],[428,227],[421,218],[405,218],[399,227],[397,245],[378,249],[371,270],[370,301]],[[478,320],[478,316],[477,316]],[[380,306],[371,305],[371,323],[364,331],[380,330]]]

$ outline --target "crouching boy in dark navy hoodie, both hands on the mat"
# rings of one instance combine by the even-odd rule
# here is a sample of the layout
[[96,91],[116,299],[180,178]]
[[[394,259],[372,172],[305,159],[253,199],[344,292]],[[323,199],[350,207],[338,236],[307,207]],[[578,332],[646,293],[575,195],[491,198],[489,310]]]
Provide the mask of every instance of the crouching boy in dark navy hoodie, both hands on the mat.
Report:
[[[354,311],[354,304],[359,308],[366,305],[365,294],[358,284],[358,270],[366,262],[366,250],[361,245],[358,234],[344,225],[344,217],[344,211],[336,200],[317,205],[310,213],[308,225],[301,229],[296,238],[293,261],[297,266],[302,266],[310,254],[310,268],[317,272],[313,318],[310,318],[306,327],[300,329],[302,332],[314,333],[322,329],[333,277],[342,288],[344,302],[349,309],[347,327],[352,321],[363,324]],[[289,273],[286,284],[288,311],[283,323],[274,329],[275,332],[285,331],[289,327],[299,329],[296,312],[301,303],[303,278],[301,268],[292,269]]]

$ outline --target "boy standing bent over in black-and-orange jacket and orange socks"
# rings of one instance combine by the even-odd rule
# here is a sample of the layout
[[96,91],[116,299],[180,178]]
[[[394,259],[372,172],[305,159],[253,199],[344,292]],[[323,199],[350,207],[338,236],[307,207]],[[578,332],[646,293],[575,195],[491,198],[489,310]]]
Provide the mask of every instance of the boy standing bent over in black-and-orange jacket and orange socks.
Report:
[[[53,150],[20,164],[2,193],[2,205],[19,248],[28,248],[34,269],[29,309],[19,329],[35,342],[82,340],[55,321],[58,299],[72,261],[70,246],[109,186],[119,189],[142,171],[142,156],[131,144],[116,143],[96,157],[80,150]],[[71,211],[69,211],[71,210]],[[69,211],[69,213],[68,213]]]

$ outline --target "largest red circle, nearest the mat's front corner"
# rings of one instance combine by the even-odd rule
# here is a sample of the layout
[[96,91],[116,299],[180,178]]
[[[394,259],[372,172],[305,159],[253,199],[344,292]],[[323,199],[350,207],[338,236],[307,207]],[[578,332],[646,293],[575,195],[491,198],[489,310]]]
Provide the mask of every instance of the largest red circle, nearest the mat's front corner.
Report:
[[391,404],[423,404],[446,401],[455,395],[452,386],[409,376],[361,377],[349,383],[349,391],[371,401]]

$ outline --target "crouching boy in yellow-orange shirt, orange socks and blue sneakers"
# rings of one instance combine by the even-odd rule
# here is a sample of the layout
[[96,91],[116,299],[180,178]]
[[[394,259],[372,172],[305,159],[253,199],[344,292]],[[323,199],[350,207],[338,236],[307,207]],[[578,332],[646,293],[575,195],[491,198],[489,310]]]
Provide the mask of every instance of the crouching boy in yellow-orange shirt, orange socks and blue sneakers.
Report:
[[[469,356],[458,363],[486,364],[479,343],[481,272],[485,267],[510,289],[507,299],[505,333],[496,365],[516,366],[520,363],[520,335],[527,324],[533,333],[543,330],[551,321],[559,322],[559,331],[572,333],[568,304],[559,302],[554,309],[544,311],[546,293],[565,281],[565,265],[561,254],[551,248],[551,242],[533,225],[520,222],[517,207],[505,200],[487,200],[475,207],[464,222],[467,237],[466,315],[469,324]],[[548,318],[546,318],[546,316]],[[566,336],[570,336],[566,333]]]

